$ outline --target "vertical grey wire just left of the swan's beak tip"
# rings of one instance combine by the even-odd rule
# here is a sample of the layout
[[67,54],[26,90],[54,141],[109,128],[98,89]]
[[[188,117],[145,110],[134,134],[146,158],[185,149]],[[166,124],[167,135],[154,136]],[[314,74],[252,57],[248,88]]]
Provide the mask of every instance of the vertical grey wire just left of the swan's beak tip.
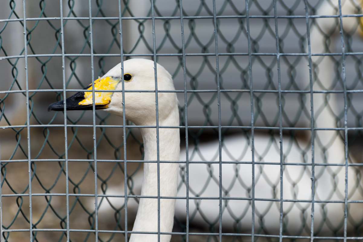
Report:
[[23,0],[24,18],[24,60],[25,60],[25,89],[26,89],[26,133],[28,136],[28,174],[29,174],[29,241],[33,241],[33,215],[32,215],[32,159],[30,156],[30,120],[29,120],[29,82],[28,82],[28,41],[26,39],[26,8]]

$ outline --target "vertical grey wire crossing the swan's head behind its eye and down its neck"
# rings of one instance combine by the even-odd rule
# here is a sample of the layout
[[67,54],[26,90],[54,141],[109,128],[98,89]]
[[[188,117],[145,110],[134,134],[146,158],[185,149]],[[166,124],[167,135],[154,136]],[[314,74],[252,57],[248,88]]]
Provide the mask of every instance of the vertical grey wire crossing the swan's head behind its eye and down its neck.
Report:
[[158,104],[158,75],[156,70],[156,38],[155,38],[155,13],[154,0],[151,0],[152,44],[154,50],[155,73],[155,105],[156,105],[156,160],[158,166],[158,242],[160,241],[160,157],[159,157],[159,104]]

